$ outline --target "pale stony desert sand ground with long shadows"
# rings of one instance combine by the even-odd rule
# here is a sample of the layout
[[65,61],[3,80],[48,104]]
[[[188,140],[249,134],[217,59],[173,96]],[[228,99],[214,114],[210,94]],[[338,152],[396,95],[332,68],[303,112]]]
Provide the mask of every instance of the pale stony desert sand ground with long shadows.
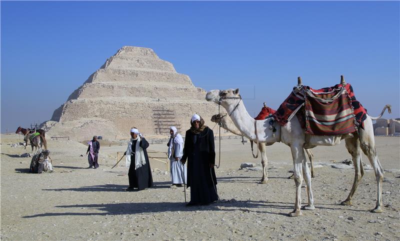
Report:
[[[383,213],[369,212],[375,206],[376,181],[366,170],[355,192],[353,205],[342,206],[351,188],[353,168],[332,168],[350,158],[344,142],[316,147],[312,178],[315,210],[289,217],[293,209],[294,181],[289,147],[267,147],[268,182],[258,184],[261,171],[240,169],[253,159],[248,143],[223,139],[221,162],[216,169],[219,201],[205,206],[184,205],[183,188],[169,188],[165,165],[150,160],[155,186],[125,192],[127,168],[117,166],[116,151],[125,145],[102,142],[98,169],[86,169],[86,145],[48,139],[55,172],[28,173],[30,157],[16,134],[1,135],[1,239],[274,239],[274,240],[398,240],[400,211],[400,138],[376,137],[383,168]],[[149,141],[150,142],[150,141]],[[151,143],[151,142],[150,142]],[[215,142],[218,150],[218,141]],[[29,147],[30,148],[30,147]],[[166,151],[165,143],[149,149]],[[218,153],[217,153],[218,157]],[[363,161],[369,164],[366,156]],[[190,189],[186,191],[190,199]],[[306,190],[302,188],[302,203]]]

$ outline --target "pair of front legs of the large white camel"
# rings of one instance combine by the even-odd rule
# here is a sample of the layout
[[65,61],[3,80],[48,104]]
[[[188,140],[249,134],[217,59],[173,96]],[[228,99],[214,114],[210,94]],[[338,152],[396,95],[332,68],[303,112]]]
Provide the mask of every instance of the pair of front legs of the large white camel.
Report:
[[293,157],[293,166],[294,166],[294,183],[296,185],[296,199],[294,203],[294,210],[289,213],[289,216],[300,216],[302,212],[301,208],[301,183],[303,180],[303,176],[305,179],[305,183],[307,185],[307,197],[308,204],[304,206],[304,209],[314,209],[314,200],[312,196],[311,190],[311,174],[307,165],[307,161],[305,159],[304,149],[302,147],[298,147],[302,145],[291,144],[291,155]]

